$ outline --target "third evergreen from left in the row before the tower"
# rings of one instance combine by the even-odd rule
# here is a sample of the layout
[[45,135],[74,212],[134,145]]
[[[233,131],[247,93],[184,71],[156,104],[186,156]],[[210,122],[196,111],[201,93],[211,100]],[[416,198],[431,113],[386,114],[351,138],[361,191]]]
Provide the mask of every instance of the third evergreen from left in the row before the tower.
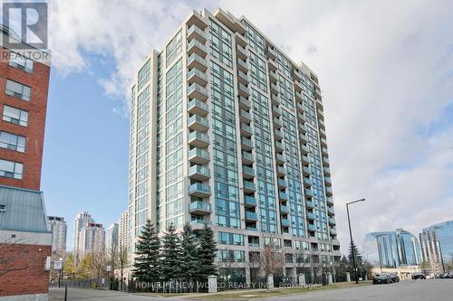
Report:
[[180,276],[192,281],[198,275],[198,244],[197,237],[189,224],[181,233],[181,270]]

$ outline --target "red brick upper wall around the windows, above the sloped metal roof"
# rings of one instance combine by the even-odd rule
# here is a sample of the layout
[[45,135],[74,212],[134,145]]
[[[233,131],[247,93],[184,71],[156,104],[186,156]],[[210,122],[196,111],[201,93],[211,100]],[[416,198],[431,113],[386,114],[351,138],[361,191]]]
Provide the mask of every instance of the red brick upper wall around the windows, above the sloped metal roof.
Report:
[[[0,49],[0,52],[7,51]],[[5,55],[2,54],[2,57]],[[11,67],[7,62],[0,62],[0,130],[26,137],[25,153],[0,147],[0,158],[24,164],[22,180],[0,177],[0,184],[40,190],[49,73],[49,66],[36,61],[32,73]],[[31,87],[30,101],[6,95],[7,79]],[[3,121],[4,104],[28,111],[28,127]]]

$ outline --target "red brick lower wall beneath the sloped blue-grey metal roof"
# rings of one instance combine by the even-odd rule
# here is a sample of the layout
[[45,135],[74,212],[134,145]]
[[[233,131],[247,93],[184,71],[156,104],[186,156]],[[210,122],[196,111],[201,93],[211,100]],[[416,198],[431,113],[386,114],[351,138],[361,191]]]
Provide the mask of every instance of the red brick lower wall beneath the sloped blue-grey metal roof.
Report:
[[[51,246],[0,244],[0,296],[47,294]],[[12,269],[12,270],[11,270]]]

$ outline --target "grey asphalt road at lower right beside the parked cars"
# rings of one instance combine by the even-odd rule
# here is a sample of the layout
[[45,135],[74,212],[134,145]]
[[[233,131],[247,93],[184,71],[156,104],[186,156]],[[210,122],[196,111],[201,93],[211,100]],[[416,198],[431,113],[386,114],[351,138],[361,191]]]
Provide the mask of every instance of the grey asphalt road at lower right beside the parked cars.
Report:
[[443,301],[453,300],[453,279],[406,280],[388,285],[324,290],[298,296],[273,298],[280,301]]

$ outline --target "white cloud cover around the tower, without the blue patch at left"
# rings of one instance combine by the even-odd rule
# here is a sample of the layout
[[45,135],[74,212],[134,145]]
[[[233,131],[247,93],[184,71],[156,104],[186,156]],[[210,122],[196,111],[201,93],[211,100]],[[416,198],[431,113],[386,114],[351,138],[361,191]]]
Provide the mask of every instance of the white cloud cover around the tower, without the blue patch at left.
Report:
[[[99,83],[109,95],[127,95],[135,66],[202,4],[54,3],[54,64],[63,72],[87,71],[83,52],[111,55],[116,71]],[[218,6],[245,15],[320,77],[343,250],[344,204],[355,198],[367,198],[352,209],[360,243],[367,231],[418,232],[453,219],[451,2],[228,0]],[[430,128],[448,106],[443,129]]]

